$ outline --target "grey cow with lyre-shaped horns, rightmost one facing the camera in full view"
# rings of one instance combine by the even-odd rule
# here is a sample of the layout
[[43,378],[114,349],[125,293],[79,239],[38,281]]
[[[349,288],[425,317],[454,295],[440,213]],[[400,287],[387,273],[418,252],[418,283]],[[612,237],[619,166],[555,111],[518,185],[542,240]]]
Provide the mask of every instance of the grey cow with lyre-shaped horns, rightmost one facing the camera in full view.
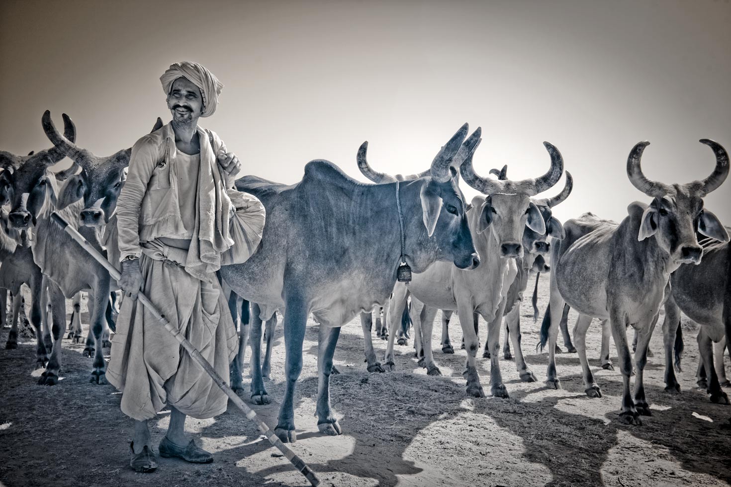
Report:
[[[643,175],[640,158],[649,142],[637,143],[627,158],[627,176],[635,188],[653,198],[651,204],[630,204],[629,215],[618,225],[594,219],[567,221],[564,223],[566,238],[551,250],[550,303],[544,320],[548,332],[548,386],[561,386],[556,377],[554,347],[558,321],[564,303],[568,303],[579,312],[574,340],[586,394],[601,396],[586,360],[586,330],[592,317],[609,320],[624,380],[621,423],[641,424],[640,415],[651,415],[643,387],[648,343],[670,273],[681,264],[701,260],[703,249],[698,245],[695,227],[703,229],[708,237],[728,239],[713,213],[703,210],[702,200],[726,179],[728,155],[716,142],[708,139],[700,142],[716,154],[716,169],[705,180],[685,185],[648,180]],[[629,389],[632,374],[632,356],[626,338],[629,325],[639,334],[634,396]]]

